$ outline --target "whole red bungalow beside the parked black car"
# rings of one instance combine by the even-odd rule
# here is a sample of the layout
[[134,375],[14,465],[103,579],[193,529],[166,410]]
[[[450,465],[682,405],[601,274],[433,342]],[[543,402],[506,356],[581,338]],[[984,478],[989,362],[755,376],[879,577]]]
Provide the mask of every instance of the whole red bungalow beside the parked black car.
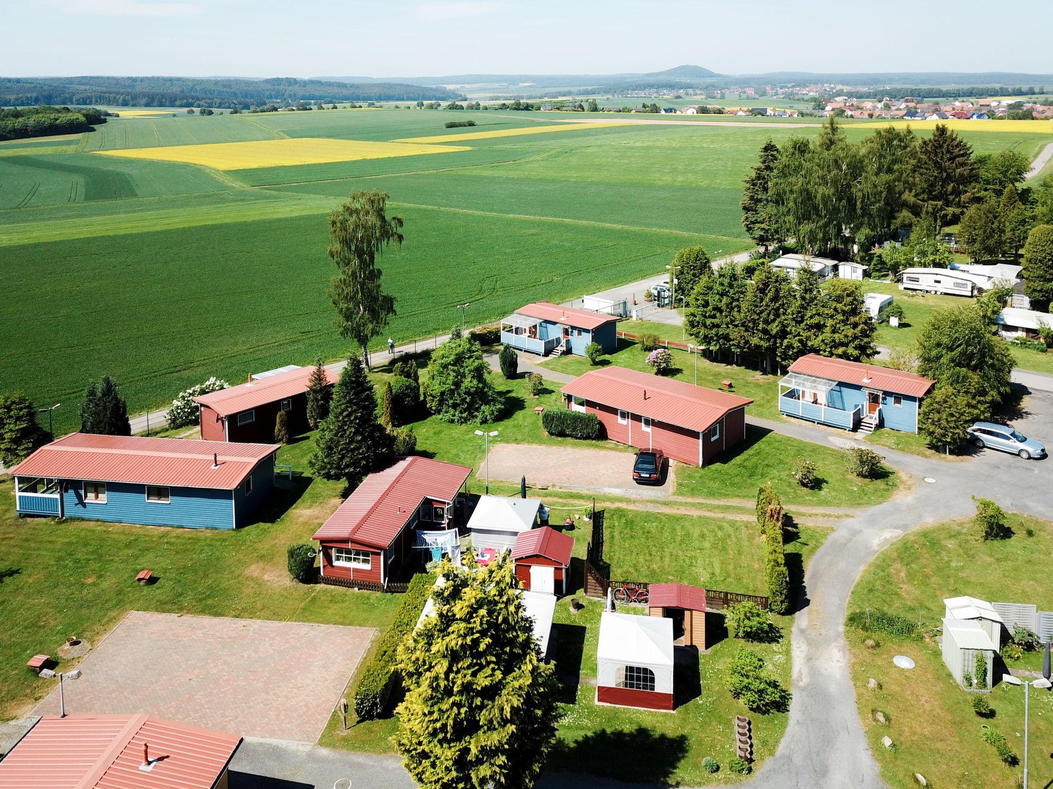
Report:
[[560,391],[567,407],[595,413],[607,437],[640,449],[661,449],[704,466],[746,437],[746,406],[727,391],[625,367],[590,370]]

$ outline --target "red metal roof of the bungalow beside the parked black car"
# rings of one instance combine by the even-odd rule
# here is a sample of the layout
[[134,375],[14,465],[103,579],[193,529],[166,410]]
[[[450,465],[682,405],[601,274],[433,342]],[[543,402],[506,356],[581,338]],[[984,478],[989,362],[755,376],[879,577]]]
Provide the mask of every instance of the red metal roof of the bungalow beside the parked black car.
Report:
[[699,432],[729,411],[753,402],[727,391],[625,367],[590,370],[560,391]]

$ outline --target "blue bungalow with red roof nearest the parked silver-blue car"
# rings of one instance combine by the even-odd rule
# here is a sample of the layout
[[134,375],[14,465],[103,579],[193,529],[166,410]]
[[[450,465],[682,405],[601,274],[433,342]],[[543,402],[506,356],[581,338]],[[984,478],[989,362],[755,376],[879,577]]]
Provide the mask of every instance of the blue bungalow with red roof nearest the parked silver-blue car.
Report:
[[779,381],[779,411],[845,430],[918,431],[918,408],[933,381],[861,362],[803,356]]

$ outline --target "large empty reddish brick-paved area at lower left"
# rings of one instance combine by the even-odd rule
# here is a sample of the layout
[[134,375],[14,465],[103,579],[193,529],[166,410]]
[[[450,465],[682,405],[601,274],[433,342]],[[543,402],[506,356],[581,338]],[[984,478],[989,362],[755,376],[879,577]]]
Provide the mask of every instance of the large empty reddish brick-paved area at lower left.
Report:
[[[375,632],[132,611],[65,682],[66,714],[145,712],[314,743]],[[58,711],[56,688],[34,714]]]

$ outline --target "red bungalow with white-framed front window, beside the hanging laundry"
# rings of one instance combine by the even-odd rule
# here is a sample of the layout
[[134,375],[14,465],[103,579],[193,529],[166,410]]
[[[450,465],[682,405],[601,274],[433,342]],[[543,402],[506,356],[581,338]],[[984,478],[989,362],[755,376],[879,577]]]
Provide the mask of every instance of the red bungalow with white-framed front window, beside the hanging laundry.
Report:
[[370,474],[311,538],[321,552],[321,582],[385,589],[413,558],[418,530],[463,521],[472,469],[430,458],[402,458]]

